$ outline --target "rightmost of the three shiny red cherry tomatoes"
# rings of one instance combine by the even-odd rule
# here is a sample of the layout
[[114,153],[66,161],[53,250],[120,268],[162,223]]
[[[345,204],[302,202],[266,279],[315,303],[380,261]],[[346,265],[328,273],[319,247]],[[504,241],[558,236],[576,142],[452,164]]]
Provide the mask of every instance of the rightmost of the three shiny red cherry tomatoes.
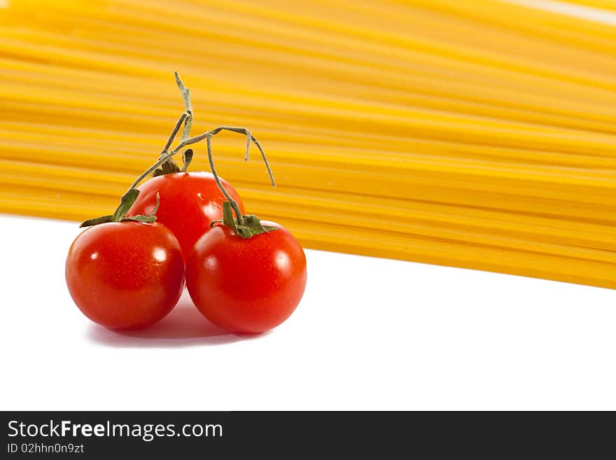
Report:
[[260,333],[293,313],[306,287],[306,257],[295,237],[278,230],[243,239],[216,224],[195,244],[186,286],[212,323],[237,333]]

